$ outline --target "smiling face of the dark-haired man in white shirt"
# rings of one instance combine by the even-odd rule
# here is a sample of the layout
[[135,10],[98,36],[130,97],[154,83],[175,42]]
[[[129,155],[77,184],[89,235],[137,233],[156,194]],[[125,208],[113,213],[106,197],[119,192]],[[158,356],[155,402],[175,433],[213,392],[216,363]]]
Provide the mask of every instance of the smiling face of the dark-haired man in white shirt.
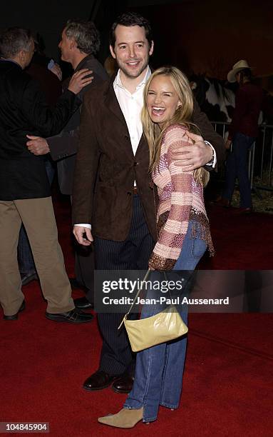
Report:
[[136,78],[146,69],[153,43],[149,48],[144,27],[118,26],[115,28],[115,47],[110,52],[121,71],[129,78]]

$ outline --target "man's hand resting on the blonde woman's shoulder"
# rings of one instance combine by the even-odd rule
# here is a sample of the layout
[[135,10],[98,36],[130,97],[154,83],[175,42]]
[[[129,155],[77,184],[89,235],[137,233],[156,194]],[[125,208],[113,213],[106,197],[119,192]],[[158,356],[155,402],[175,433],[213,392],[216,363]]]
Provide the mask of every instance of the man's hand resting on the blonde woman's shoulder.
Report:
[[205,143],[202,136],[188,131],[186,135],[194,144],[189,146],[172,146],[172,159],[177,161],[175,165],[181,167],[183,171],[191,171],[205,166],[212,160],[212,148]]

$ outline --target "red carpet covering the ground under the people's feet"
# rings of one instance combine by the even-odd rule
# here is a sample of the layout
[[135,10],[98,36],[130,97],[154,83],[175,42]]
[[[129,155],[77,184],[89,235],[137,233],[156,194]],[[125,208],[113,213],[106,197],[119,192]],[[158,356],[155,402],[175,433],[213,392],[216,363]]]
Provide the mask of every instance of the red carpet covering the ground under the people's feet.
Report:
[[[242,221],[215,208],[210,216],[217,257],[206,259],[206,268],[271,268],[271,216],[254,214]],[[72,275],[69,222],[68,202],[62,201],[58,225]],[[96,419],[118,411],[125,395],[110,388],[94,393],[81,388],[98,366],[96,321],[85,326],[48,321],[38,283],[26,286],[24,293],[26,311],[19,320],[0,321],[0,421],[46,421],[54,437],[272,435],[272,315],[190,314],[180,408],[161,408],[157,422],[123,431]]]

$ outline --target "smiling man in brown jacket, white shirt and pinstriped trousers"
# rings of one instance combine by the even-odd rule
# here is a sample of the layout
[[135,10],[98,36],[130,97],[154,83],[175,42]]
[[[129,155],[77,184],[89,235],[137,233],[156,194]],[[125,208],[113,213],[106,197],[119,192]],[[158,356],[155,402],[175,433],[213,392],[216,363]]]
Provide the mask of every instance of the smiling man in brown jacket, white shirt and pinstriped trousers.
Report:
[[[73,233],[84,246],[90,245],[94,236],[98,269],[144,270],[156,240],[149,151],[140,122],[143,88],[150,76],[148,61],[153,54],[148,21],[135,13],[120,16],[112,26],[110,51],[119,66],[117,76],[88,91],[83,99],[73,187]],[[197,104],[193,121],[221,160],[223,141]],[[213,161],[215,149],[201,137],[186,149],[183,169]],[[121,318],[117,313],[98,313],[103,348],[99,370],[83,385],[87,390],[113,383],[114,391],[128,393],[132,387],[128,339],[125,330],[117,331]]]

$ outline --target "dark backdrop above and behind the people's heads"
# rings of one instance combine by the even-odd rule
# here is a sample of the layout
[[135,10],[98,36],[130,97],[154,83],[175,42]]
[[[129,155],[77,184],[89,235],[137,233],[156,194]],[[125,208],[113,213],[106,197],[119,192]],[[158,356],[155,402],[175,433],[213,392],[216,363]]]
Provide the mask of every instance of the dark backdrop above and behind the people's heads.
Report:
[[153,66],[175,64],[186,72],[225,78],[238,59],[255,74],[273,73],[272,1],[181,0],[1,1],[0,27],[38,31],[46,54],[58,59],[58,41],[68,18],[95,19],[102,35],[101,61],[108,56],[108,30],[118,12],[140,11],[153,23]]

